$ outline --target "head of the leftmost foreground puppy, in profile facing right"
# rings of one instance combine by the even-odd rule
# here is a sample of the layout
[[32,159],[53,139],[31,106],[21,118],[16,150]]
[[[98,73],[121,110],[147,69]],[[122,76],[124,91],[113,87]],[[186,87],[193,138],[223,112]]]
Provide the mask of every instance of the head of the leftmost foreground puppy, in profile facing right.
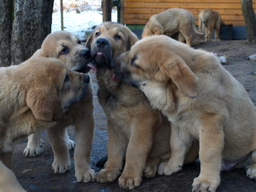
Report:
[[37,120],[60,120],[87,92],[90,77],[68,70],[58,59],[36,58],[20,65],[28,72],[22,79],[26,83],[26,104]]

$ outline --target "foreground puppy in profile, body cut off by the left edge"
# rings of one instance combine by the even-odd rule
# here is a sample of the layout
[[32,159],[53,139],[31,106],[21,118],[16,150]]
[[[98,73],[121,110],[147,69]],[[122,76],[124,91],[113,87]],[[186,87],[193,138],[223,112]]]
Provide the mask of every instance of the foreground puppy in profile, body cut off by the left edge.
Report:
[[24,191],[8,169],[15,144],[60,121],[83,99],[90,77],[68,70],[55,58],[1,67],[0,75],[0,191]]

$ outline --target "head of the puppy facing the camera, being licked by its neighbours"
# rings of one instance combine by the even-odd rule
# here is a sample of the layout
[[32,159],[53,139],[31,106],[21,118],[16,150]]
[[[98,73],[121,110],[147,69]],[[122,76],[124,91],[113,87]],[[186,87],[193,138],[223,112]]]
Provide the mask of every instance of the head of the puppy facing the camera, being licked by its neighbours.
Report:
[[104,22],[97,26],[85,45],[91,51],[96,68],[110,69],[111,60],[128,51],[137,41],[137,36],[129,28],[114,22]]

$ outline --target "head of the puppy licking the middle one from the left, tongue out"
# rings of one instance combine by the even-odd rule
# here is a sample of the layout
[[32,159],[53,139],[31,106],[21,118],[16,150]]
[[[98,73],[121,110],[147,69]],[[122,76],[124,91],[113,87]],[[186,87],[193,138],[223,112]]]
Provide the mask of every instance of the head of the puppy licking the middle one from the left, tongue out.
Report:
[[41,49],[31,58],[58,58],[68,69],[87,73],[90,70],[90,67],[87,67],[90,56],[90,51],[81,44],[76,35],[67,31],[56,31],[45,38]]

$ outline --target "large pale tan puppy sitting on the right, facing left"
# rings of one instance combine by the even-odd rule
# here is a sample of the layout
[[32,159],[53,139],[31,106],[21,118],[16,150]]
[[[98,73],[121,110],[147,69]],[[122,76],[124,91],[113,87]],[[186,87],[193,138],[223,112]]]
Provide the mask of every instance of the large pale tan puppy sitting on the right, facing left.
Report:
[[161,35],[143,38],[111,67],[172,122],[172,158],[159,165],[158,173],[181,170],[193,137],[200,142],[201,163],[193,191],[216,191],[220,171],[232,167],[246,168],[255,179],[256,109],[216,56]]

